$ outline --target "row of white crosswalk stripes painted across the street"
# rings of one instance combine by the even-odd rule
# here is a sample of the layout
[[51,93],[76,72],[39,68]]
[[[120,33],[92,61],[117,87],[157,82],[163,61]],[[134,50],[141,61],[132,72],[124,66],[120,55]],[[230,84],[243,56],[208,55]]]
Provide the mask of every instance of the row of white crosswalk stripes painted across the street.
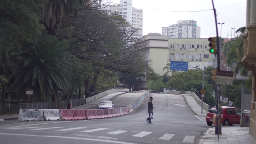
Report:
[[[130,131],[126,130],[114,130],[111,131],[108,128],[95,128],[95,129],[88,129],[87,127],[75,127],[75,128],[65,128],[65,127],[42,127],[42,126],[28,126],[28,127],[12,127],[12,128],[1,128],[4,130],[21,130],[21,129],[26,129],[26,130],[53,130],[53,131],[79,131],[79,132],[98,132],[98,131],[106,131],[106,134],[124,134],[124,133],[129,133]],[[137,138],[142,138],[146,136],[150,136],[150,134],[154,134],[154,132],[146,132],[146,131],[140,131],[137,134],[131,135],[132,137],[137,137]],[[160,136],[158,139],[159,140],[171,140],[174,138],[176,134],[164,134],[163,136]],[[184,143],[194,143],[195,136],[185,136],[182,140]]]

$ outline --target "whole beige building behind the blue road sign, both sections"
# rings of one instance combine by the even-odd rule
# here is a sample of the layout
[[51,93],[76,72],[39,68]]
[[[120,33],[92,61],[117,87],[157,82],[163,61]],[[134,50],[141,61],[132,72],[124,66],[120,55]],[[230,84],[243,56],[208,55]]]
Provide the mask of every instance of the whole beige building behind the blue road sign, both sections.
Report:
[[[145,35],[141,39],[142,50],[154,72],[164,75],[170,61],[188,62],[189,67],[205,70],[213,66],[213,54],[209,52],[208,38],[168,38],[168,36]],[[188,68],[195,69],[195,68]],[[171,73],[168,73],[169,75]]]

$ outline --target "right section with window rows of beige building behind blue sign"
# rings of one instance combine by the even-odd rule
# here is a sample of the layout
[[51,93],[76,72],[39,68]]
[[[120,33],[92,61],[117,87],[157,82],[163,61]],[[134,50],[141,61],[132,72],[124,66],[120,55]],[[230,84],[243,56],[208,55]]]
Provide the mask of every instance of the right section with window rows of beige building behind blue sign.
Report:
[[168,61],[184,61],[188,66],[205,70],[213,66],[213,54],[209,52],[208,44],[208,38],[169,38]]

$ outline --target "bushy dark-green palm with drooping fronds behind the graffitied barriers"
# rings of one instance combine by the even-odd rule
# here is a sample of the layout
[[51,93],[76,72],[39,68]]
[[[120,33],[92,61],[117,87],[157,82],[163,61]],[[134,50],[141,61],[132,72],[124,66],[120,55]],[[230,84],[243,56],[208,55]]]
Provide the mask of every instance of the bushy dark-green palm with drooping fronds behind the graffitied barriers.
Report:
[[47,36],[37,46],[28,46],[22,56],[24,60],[15,77],[19,94],[24,94],[26,88],[32,88],[33,101],[50,98],[56,101],[59,89],[64,93],[69,92],[72,70],[67,44],[58,43],[58,38]]

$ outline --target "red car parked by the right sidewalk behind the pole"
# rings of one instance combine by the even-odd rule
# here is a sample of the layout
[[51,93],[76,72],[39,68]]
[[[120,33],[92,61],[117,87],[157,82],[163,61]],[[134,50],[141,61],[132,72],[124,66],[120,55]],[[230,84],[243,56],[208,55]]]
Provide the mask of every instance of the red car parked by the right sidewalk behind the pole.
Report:
[[[240,124],[241,111],[238,108],[231,106],[222,106],[221,124],[222,126],[232,126],[233,124]],[[206,115],[206,123],[208,126],[212,125],[212,117],[216,114],[216,106],[210,108]],[[246,117],[246,120],[250,120],[250,117]]]

